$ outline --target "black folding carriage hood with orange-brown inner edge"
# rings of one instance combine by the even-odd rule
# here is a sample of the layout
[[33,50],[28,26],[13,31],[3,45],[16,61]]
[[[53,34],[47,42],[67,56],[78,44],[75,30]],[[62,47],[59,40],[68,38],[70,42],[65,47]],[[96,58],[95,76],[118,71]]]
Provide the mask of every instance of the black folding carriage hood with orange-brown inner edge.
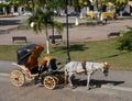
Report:
[[31,74],[38,72],[38,57],[44,50],[44,45],[31,44],[26,47],[19,48],[18,53],[18,65],[23,65],[29,69]]

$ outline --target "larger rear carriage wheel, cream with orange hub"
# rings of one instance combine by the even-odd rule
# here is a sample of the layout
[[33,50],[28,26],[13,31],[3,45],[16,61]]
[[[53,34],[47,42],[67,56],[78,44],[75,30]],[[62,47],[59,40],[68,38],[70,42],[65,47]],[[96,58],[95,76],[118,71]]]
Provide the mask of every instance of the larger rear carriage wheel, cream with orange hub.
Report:
[[13,86],[21,87],[25,82],[25,77],[20,70],[12,70],[10,75],[10,79]]

